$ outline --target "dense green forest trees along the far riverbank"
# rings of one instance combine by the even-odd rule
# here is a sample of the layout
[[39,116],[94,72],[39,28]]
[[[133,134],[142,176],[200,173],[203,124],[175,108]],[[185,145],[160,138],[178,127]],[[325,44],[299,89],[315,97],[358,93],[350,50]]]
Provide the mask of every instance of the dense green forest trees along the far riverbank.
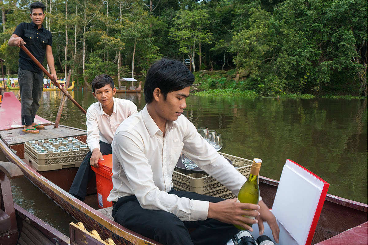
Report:
[[[190,69],[234,70],[231,89],[264,96],[367,91],[366,0],[47,0],[57,72],[145,76],[161,57],[190,59]],[[0,2],[7,73],[18,48],[7,41],[30,22],[31,1]],[[46,65],[46,62],[45,62]],[[123,84],[124,85],[124,84]]]

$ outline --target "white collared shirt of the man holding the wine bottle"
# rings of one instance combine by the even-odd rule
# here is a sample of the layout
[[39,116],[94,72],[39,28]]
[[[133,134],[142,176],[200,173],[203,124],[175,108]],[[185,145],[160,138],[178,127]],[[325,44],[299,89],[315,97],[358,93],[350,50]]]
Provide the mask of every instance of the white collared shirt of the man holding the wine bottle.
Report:
[[183,150],[202,170],[238,194],[247,180],[209,144],[184,115],[167,121],[165,137],[147,105],[118,127],[112,143],[113,189],[107,201],[135,195],[145,209],[165,210],[183,221],[205,220],[209,202],[168,194]]

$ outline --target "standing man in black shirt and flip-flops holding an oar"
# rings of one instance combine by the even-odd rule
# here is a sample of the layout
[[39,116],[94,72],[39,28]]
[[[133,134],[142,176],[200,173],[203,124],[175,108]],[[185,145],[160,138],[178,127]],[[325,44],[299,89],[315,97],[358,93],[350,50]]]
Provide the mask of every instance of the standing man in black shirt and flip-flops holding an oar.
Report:
[[[42,26],[45,19],[45,5],[40,2],[32,3],[31,23],[22,22],[15,28],[8,45],[24,45],[42,64],[46,60],[50,68],[51,76],[57,80],[54,67],[54,57],[52,55],[52,36],[49,30]],[[22,125],[25,125],[24,132],[39,133],[38,129],[45,126],[34,123],[36,112],[40,107],[43,89],[42,70],[32,61],[32,59],[22,50],[19,51],[18,82],[21,93]]]

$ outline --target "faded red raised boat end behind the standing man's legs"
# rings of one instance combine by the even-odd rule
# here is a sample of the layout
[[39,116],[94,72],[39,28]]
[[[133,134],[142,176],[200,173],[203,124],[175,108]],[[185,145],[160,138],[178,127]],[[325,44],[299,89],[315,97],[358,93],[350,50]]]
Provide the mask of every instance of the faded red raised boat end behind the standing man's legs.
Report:
[[[0,107],[0,130],[22,126],[20,108],[21,102],[15,97],[13,92],[5,92],[3,94],[3,103]],[[36,115],[35,123],[45,124],[51,122]]]

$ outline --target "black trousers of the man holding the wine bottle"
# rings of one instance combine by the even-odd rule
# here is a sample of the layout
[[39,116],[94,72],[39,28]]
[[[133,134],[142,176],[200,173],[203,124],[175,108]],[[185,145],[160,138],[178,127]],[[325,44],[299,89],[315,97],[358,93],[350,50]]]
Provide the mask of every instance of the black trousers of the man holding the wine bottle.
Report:
[[[209,202],[223,201],[217,197],[173,189],[169,194]],[[239,232],[232,224],[215,219],[181,221],[176,215],[163,210],[143,209],[135,196],[121,197],[114,202],[112,216],[122,226],[168,245],[224,245]],[[195,230],[189,233],[188,228]]]

